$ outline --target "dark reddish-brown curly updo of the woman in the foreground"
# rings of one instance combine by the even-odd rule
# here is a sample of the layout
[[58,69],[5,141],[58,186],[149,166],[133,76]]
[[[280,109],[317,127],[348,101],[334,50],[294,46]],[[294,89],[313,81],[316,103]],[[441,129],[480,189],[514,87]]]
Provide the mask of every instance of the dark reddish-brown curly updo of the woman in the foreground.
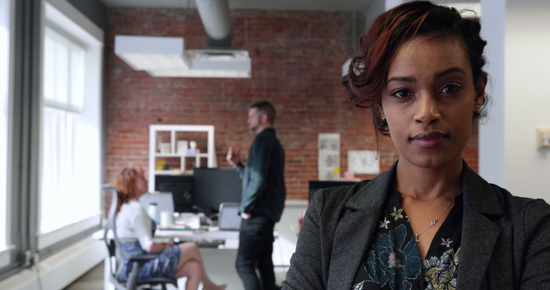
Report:
[[[370,29],[361,37],[359,55],[349,66],[342,85],[348,88],[348,98],[361,108],[372,108],[372,120],[376,131],[389,136],[388,123],[382,119],[381,97],[386,86],[389,64],[401,44],[415,36],[430,35],[433,38],[455,38],[467,53],[472,68],[474,84],[484,79],[485,57],[483,48],[487,42],[480,37],[479,20],[463,18],[455,8],[428,1],[411,1],[379,15]],[[474,119],[486,115],[485,102],[474,113]]]

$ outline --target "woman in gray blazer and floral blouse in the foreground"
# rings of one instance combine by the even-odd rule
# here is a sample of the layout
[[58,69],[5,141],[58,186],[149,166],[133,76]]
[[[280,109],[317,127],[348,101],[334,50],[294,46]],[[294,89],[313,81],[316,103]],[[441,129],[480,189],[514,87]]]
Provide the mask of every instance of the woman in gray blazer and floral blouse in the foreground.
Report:
[[283,289],[550,289],[550,206],[462,159],[487,103],[480,29],[414,1],[361,37],[343,84],[399,160],[315,194]]

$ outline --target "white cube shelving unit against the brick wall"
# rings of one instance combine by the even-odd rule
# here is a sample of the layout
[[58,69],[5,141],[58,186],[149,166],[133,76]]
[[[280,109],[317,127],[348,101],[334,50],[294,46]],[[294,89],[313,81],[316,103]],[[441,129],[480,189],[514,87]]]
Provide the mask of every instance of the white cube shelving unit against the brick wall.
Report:
[[[170,153],[161,153],[157,146],[157,132],[170,132]],[[178,132],[205,132],[207,133],[207,150],[201,153],[188,150],[186,154],[178,153],[176,133]],[[158,158],[180,158],[180,170],[157,170]],[[150,125],[149,126],[149,192],[155,191],[156,175],[180,175],[185,173],[186,160],[195,159],[195,166],[199,167],[201,158],[206,158],[209,168],[217,167],[216,149],[214,147],[214,126],[212,125]]]

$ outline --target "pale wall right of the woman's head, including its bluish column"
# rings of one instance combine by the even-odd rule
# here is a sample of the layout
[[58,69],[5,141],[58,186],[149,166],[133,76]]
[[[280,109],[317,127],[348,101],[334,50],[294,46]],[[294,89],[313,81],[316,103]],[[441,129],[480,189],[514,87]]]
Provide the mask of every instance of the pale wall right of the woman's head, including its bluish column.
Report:
[[480,174],[522,197],[550,202],[550,150],[537,126],[550,126],[550,2],[482,0],[494,103],[480,127]]

